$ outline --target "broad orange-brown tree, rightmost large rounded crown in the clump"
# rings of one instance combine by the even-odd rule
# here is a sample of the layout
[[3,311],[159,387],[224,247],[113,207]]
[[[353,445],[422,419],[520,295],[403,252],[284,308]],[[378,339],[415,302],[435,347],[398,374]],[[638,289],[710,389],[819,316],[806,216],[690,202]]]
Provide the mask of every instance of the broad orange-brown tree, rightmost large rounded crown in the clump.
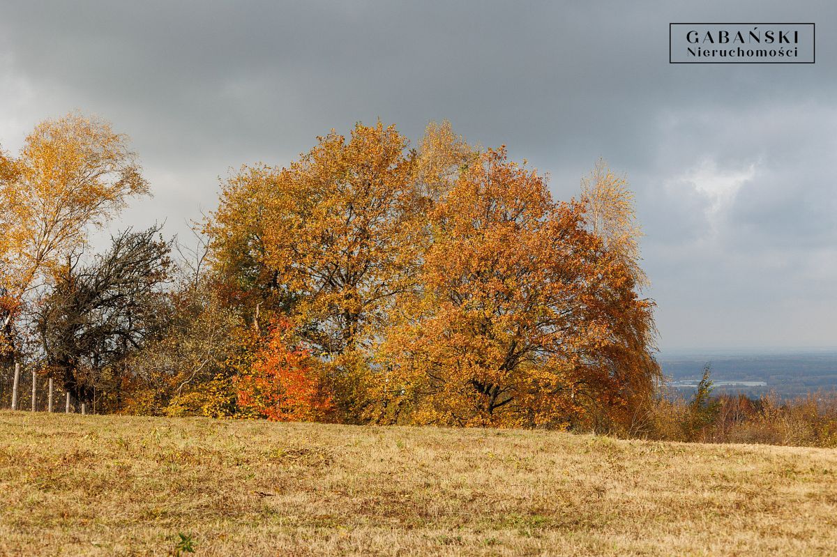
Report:
[[[587,229],[585,210],[584,202],[553,202],[542,177],[502,149],[460,172],[431,215],[423,288],[393,312],[383,362],[394,393],[388,411],[406,407],[419,422],[531,427],[624,405],[624,377],[595,355],[616,342],[603,292],[632,284]],[[650,311],[635,296],[623,301]]]

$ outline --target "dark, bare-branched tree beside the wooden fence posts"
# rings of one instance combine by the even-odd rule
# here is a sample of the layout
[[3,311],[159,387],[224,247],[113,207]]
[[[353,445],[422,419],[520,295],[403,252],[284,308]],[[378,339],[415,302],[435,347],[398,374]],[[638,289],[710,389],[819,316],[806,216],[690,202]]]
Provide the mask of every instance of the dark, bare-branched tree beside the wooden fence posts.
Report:
[[160,230],[128,229],[90,265],[69,259],[55,273],[39,309],[39,337],[47,369],[77,402],[93,401],[105,373],[118,380],[121,362],[171,317],[162,288],[170,275],[171,243]]

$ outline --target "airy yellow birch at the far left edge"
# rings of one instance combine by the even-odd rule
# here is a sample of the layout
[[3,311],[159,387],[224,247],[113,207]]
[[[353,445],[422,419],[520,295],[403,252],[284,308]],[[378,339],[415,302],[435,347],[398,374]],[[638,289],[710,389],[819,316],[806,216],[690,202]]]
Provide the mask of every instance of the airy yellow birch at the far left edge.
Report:
[[[125,135],[103,120],[44,120],[16,158],[0,157],[0,335],[13,339],[28,295],[128,197],[148,192]],[[8,351],[8,350],[7,350]]]

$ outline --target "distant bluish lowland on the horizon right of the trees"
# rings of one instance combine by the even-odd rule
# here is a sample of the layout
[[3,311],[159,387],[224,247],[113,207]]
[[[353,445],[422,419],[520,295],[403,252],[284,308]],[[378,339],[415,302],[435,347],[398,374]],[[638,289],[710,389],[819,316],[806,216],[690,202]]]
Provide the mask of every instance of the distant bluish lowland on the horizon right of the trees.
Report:
[[675,391],[689,396],[711,365],[713,394],[774,393],[788,399],[816,391],[837,391],[837,349],[671,350],[658,360]]

